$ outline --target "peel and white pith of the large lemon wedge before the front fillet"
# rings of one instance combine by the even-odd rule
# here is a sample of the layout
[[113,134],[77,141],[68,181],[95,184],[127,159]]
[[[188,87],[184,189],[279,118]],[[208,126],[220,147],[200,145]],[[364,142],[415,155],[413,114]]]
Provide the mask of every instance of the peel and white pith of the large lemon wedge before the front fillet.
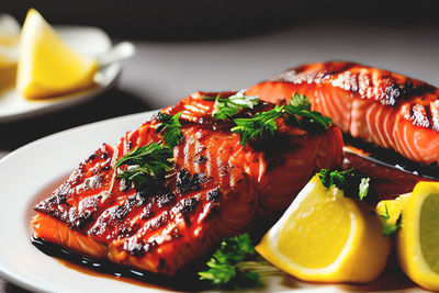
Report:
[[[344,247],[330,264],[320,268],[309,268],[306,267],[306,263],[296,263],[293,260],[294,251],[290,256],[285,256],[280,252],[278,247],[282,229],[293,225],[294,213],[297,214],[306,198],[313,196],[313,194],[331,199],[335,205],[339,204],[347,211],[347,218],[350,221],[349,237]],[[328,212],[330,213],[330,211]],[[374,280],[384,270],[391,251],[391,239],[384,237],[381,230],[380,219],[370,213],[365,204],[345,198],[344,192],[337,188],[326,189],[316,176],[299,193],[281,219],[266,234],[256,250],[275,267],[304,281],[367,283]],[[301,235],[297,234],[297,237],[300,238]],[[294,241],[294,239],[292,240]],[[314,245],[325,249],[331,244]]]

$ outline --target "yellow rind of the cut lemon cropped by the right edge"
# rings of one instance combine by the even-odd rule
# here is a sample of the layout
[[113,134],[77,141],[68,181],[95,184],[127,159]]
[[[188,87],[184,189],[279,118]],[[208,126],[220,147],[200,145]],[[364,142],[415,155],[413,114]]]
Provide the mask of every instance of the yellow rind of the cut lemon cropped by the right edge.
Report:
[[[438,182],[419,182],[416,184],[403,210],[401,228],[396,236],[396,251],[401,268],[415,283],[427,290],[439,291],[439,273],[435,272],[428,263],[429,261],[425,259],[421,244],[423,228],[420,225],[428,224],[421,223],[425,222],[421,219],[421,213],[427,212],[424,209],[428,207],[426,204],[429,204],[428,199],[431,199],[431,196],[435,196],[435,201],[439,203]],[[430,212],[432,211],[430,210]],[[438,218],[439,211],[436,211],[432,216]],[[439,247],[438,237],[436,241],[434,239],[434,243],[436,243],[436,247]],[[436,255],[438,253],[439,251]]]

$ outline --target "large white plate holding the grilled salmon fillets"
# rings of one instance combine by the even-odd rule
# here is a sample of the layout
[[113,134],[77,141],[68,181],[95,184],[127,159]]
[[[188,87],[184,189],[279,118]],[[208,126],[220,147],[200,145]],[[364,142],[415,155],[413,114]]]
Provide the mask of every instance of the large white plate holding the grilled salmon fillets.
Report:
[[[32,207],[41,196],[48,195],[55,182],[66,178],[102,143],[117,142],[153,113],[112,119],[54,134],[0,160],[2,275],[23,288],[43,292],[157,292],[157,289],[89,275],[65,267],[41,252],[30,240]],[[262,281],[266,286],[257,292],[424,292],[403,275],[390,272],[364,286],[306,284],[280,272],[267,274]]]

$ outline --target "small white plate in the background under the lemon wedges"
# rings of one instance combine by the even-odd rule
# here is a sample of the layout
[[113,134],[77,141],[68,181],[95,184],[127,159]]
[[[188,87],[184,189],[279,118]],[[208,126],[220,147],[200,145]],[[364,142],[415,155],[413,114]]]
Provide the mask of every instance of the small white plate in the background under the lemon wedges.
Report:
[[[89,26],[55,26],[55,29],[59,36],[78,52],[99,56],[111,49],[110,37],[100,29]],[[26,100],[15,89],[1,91],[0,123],[45,114],[90,100],[114,83],[121,68],[117,63],[106,66],[100,70],[101,75],[95,87],[47,100]]]

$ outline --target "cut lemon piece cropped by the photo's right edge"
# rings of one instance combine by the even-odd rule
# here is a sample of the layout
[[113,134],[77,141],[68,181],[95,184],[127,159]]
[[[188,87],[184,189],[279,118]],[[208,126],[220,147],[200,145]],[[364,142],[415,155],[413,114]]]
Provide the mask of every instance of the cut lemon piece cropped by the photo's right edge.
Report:
[[408,198],[396,236],[403,271],[418,285],[439,291],[439,183],[419,182]]

